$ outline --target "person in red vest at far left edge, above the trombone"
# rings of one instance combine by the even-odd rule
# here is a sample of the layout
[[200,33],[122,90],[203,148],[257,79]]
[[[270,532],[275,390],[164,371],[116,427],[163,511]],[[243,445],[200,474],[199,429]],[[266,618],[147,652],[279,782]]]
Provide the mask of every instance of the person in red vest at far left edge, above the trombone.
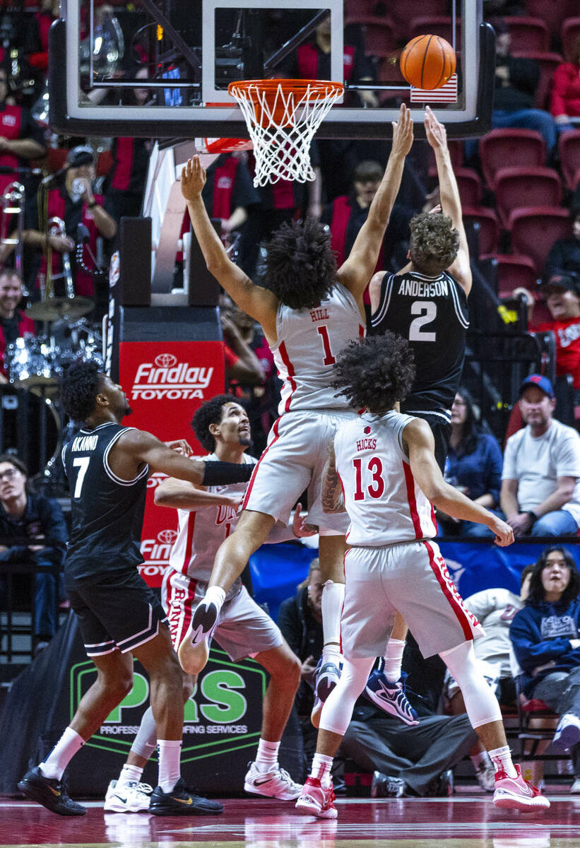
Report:
[[[8,85],[5,67],[0,66],[0,168],[26,167],[30,159],[46,151],[44,131],[28,109],[6,102]],[[0,194],[18,174],[0,174]]]

